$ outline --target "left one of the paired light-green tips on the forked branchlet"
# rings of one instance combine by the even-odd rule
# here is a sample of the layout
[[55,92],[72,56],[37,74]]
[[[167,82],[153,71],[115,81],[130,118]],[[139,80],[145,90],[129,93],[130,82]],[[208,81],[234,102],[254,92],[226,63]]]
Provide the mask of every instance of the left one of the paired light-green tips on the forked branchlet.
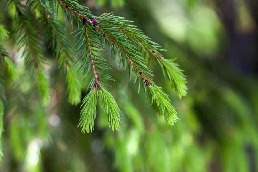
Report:
[[78,127],[81,127],[81,131],[85,133],[92,132],[94,127],[94,119],[96,118],[97,114],[97,98],[96,98],[96,92],[94,90],[91,90],[87,96],[82,101],[81,107],[83,106],[83,109],[81,110],[80,114],[80,122]]

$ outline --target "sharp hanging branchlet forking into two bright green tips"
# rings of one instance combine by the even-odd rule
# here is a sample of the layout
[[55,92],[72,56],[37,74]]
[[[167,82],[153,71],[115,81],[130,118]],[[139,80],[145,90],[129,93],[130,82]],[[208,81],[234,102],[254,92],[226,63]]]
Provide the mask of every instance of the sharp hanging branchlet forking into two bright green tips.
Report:
[[[94,23],[94,19],[89,21]],[[84,74],[83,78],[85,78],[85,76],[88,74],[90,69],[92,70],[92,73],[93,73],[93,78],[91,79],[88,86],[88,88],[91,89],[91,92],[89,93],[90,96],[88,96],[89,95],[88,94],[84,100],[85,102],[89,102],[89,101],[94,102],[92,94],[93,92],[95,93],[98,89],[101,94],[101,103],[107,114],[110,127],[112,128],[112,130],[118,130],[119,122],[120,122],[120,116],[119,116],[120,110],[113,96],[109,92],[107,92],[107,90],[105,90],[102,86],[102,85],[108,86],[107,84],[104,83],[105,80],[114,80],[114,79],[110,75],[98,72],[98,70],[108,71],[112,68],[109,67],[110,66],[109,62],[103,57],[101,57],[101,56],[104,56],[104,54],[106,53],[105,51],[103,51],[103,49],[105,50],[105,48],[104,48],[104,45],[101,43],[99,37],[94,36],[95,34],[97,34],[97,32],[95,32],[94,30],[95,26],[93,26],[93,24],[87,25],[89,21],[87,19],[86,21],[85,19],[83,19],[84,27],[81,28],[81,31],[78,33],[80,37],[77,43],[75,44],[77,45],[76,47],[76,49],[78,50],[77,54],[79,53],[82,54],[82,56],[76,62],[77,65],[81,64],[81,67],[79,68],[78,72],[80,73],[83,72]],[[82,127],[83,131],[85,131],[85,128],[86,128],[87,132],[89,131],[92,132],[93,126],[94,126],[94,119],[96,116],[95,110],[94,111],[89,110],[88,105],[86,103],[84,104],[83,109],[84,110],[81,111],[81,119],[80,119],[81,125],[79,126]],[[88,114],[89,112],[91,112],[91,114]],[[89,115],[91,115],[91,117],[89,117]],[[85,116],[86,118],[83,118]],[[87,121],[87,120],[90,120],[90,121]]]

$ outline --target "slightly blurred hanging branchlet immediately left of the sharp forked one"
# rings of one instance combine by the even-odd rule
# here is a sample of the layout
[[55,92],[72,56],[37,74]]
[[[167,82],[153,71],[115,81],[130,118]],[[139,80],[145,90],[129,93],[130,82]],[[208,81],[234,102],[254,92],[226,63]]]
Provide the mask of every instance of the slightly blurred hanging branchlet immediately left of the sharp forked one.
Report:
[[69,40],[64,23],[60,20],[55,20],[55,16],[50,10],[46,10],[43,4],[41,6],[42,11],[41,22],[44,24],[46,30],[45,35],[48,38],[52,38],[50,44],[53,55],[56,56],[56,61],[59,64],[59,68],[66,72],[66,84],[68,94],[68,101],[72,105],[77,105],[81,102],[81,83],[76,76],[76,70],[74,69],[73,55],[71,53],[71,42]]

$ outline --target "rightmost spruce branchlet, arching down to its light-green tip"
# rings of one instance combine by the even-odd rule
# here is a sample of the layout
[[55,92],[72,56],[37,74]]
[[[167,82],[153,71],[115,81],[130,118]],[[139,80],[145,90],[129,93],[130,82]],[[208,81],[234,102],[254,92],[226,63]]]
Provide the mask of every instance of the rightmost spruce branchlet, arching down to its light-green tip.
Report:
[[[103,16],[107,16],[107,18],[103,18]],[[174,63],[174,60],[167,60],[159,53],[159,51],[164,51],[164,49],[161,49],[161,46],[151,41],[151,39],[144,35],[141,30],[137,29],[136,26],[126,24],[127,22],[131,22],[126,20],[126,18],[110,15],[110,13],[103,14],[103,16],[98,18],[97,22],[99,24],[112,25],[125,33],[132,42],[139,46],[139,49],[143,50],[142,55],[145,59],[149,60],[148,58],[151,56],[154,57],[163,70],[164,77],[167,75],[172,88],[175,88],[180,98],[187,94],[187,82],[183,70],[179,69],[179,65]]]

